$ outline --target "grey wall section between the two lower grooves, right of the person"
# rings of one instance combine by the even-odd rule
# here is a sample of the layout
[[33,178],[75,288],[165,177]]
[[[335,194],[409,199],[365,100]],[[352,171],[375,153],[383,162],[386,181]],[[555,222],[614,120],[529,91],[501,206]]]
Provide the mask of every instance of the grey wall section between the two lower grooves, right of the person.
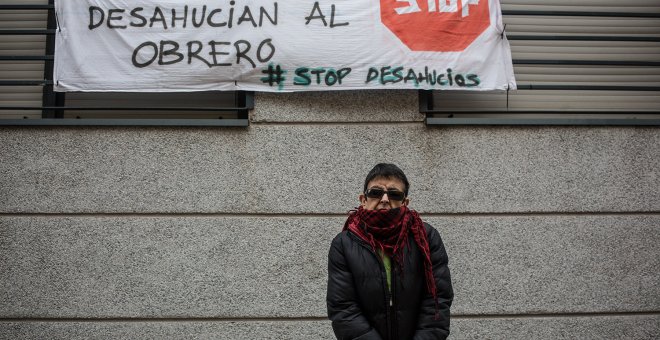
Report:
[[451,256],[457,313],[660,310],[658,215],[428,221]]

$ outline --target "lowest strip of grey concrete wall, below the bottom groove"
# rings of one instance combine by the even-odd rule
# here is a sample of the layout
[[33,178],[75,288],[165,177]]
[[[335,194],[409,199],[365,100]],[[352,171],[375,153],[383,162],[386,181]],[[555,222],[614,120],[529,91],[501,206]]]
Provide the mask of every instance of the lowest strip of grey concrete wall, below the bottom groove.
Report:
[[[657,339],[658,315],[452,320],[450,339]],[[0,322],[0,339],[291,339],[333,338],[328,321]]]

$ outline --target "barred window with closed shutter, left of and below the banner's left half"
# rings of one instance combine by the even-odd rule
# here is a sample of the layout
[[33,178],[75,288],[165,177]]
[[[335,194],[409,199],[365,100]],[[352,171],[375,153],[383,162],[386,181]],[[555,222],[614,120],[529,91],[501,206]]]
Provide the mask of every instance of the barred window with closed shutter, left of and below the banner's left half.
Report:
[[0,125],[248,124],[245,92],[52,92],[52,4],[0,0]]

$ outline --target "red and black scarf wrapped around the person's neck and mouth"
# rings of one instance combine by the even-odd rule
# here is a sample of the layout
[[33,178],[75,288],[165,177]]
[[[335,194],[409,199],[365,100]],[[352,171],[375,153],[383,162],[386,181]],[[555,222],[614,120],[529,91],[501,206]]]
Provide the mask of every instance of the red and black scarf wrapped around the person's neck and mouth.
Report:
[[436,317],[438,316],[438,299],[433,278],[431,250],[426,237],[426,228],[416,211],[408,209],[406,206],[389,210],[366,210],[360,206],[357,210],[349,212],[343,230],[350,230],[369,244],[374,252],[381,250],[392,257],[399,267],[400,273],[403,273],[403,248],[408,244],[408,235],[412,233],[424,258],[426,289],[433,295]]

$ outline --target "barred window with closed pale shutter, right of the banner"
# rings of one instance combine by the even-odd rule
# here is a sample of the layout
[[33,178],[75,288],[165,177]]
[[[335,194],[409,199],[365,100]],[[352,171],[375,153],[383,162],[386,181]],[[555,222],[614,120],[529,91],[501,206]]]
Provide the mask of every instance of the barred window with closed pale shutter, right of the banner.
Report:
[[429,117],[660,118],[649,114],[660,113],[657,1],[503,0],[502,9],[519,89],[425,93]]

